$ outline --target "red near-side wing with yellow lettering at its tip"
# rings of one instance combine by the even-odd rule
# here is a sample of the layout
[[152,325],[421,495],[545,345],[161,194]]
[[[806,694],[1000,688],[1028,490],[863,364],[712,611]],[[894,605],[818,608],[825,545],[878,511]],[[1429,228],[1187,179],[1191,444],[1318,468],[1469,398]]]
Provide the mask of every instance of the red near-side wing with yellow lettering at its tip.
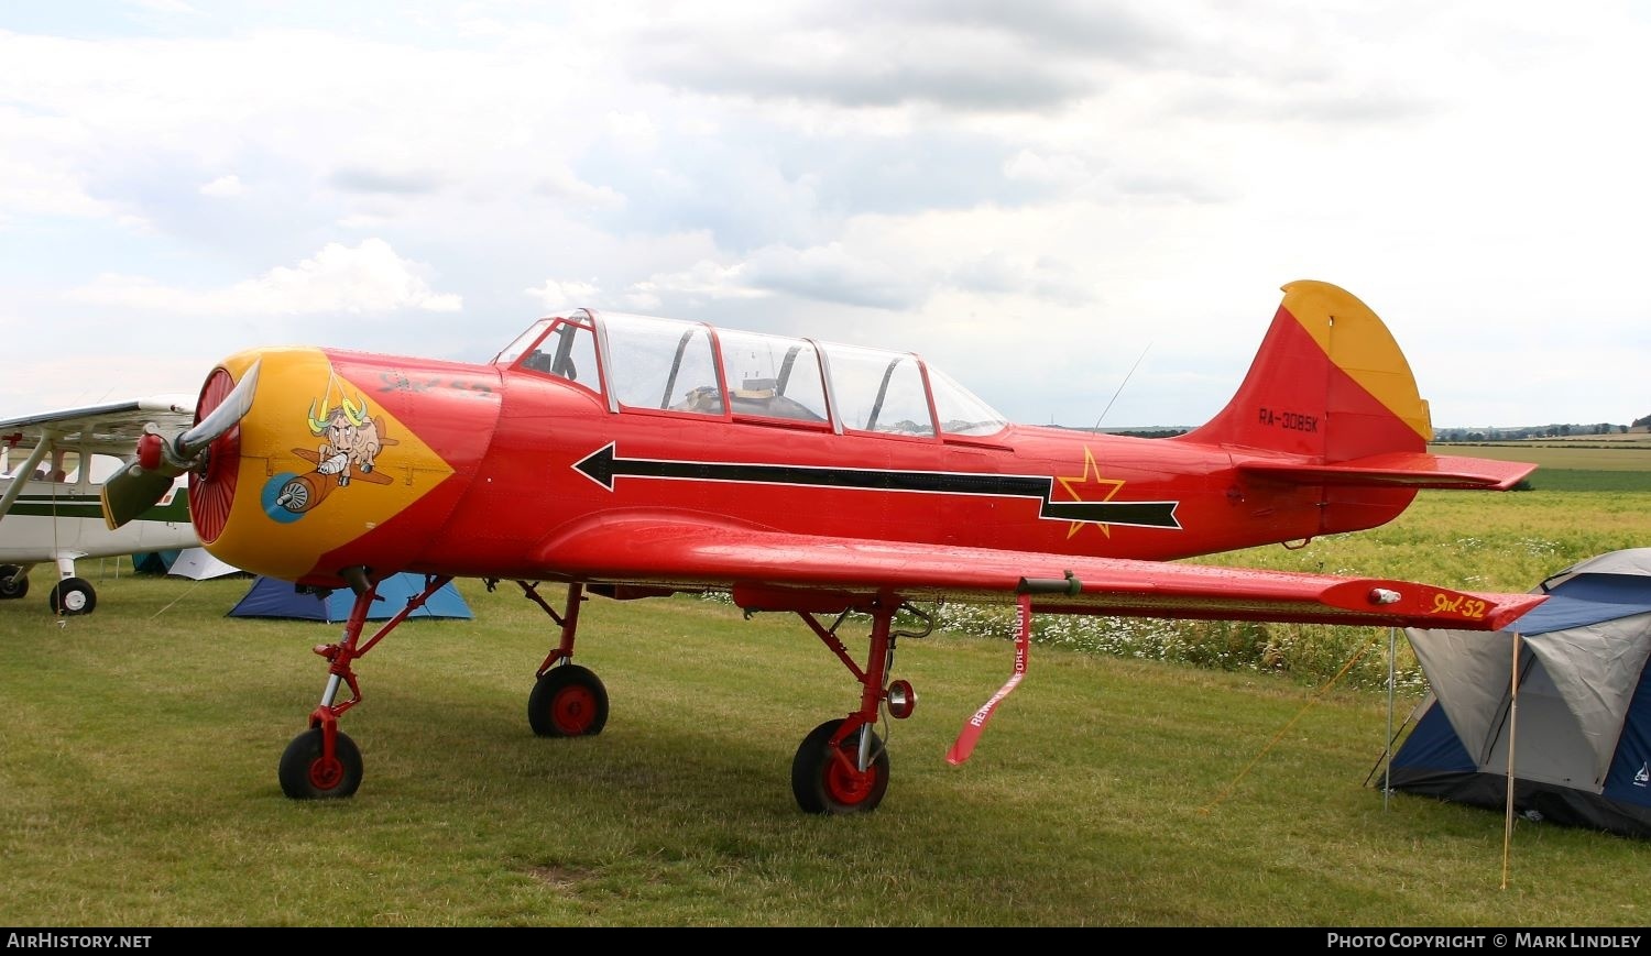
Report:
[[731,588],[746,609],[1032,594],[1035,611],[1062,614],[1496,631],[1545,599],[1385,578],[789,535],[652,513],[599,515],[555,535],[538,558],[588,581]]

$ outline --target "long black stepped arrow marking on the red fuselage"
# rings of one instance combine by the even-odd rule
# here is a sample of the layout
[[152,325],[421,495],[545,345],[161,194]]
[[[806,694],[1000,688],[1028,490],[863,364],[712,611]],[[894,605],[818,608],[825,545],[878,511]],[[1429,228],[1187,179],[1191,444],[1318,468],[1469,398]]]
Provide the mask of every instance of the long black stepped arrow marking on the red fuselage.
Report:
[[1176,520],[1176,505],[1180,502],[1055,502],[1050,500],[1055,479],[1043,476],[619,457],[614,454],[614,443],[608,443],[573,467],[608,490],[614,490],[614,480],[619,477],[642,477],[877,492],[994,495],[1037,499],[1040,502],[1038,517],[1042,518],[1180,530],[1180,522]]

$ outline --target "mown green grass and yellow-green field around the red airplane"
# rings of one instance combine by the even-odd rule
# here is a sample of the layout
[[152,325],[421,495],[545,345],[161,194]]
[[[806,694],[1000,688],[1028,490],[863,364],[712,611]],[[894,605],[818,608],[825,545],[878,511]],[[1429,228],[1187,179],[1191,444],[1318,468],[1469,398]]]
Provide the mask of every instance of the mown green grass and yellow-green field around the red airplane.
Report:
[[[1426,492],[1384,528],[1220,560],[1526,591],[1648,543],[1651,494]],[[1038,644],[961,766],[946,748],[1012,646],[905,639],[893,675],[920,705],[880,728],[888,796],[814,817],[791,758],[857,685],[794,618],[591,599],[578,660],[608,685],[608,726],[543,740],[525,708],[548,619],[461,581],[474,621],[409,622],[357,667],[342,725],[362,791],[294,802],[276,763],[325,680],[310,647],[338,626],[229,619],[239,578],[83,573],[96,614],[58,619],[43,588],[0,603],[0,925],[1651,921],[1651,842],[1522,819],[1509,840],[1499,812],[1370,786],[1420,689],[1390,703],[1319,674],[1347,646],[1382,659],[1385,631],[1273,634],[1284,667]],[[863,627],[844,639],[863,655]]]

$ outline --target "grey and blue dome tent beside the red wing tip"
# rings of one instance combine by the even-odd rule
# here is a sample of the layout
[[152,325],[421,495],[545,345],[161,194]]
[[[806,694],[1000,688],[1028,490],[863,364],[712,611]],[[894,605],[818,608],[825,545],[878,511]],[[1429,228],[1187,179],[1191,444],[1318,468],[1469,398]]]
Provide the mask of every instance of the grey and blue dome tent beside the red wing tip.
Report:
[[1512,776],[1526,819],[1651,839],[1651,548],[1590,558],[1542,591],[1506,631],[1405,631],[1430,695],[1388,786],[1506,809]]

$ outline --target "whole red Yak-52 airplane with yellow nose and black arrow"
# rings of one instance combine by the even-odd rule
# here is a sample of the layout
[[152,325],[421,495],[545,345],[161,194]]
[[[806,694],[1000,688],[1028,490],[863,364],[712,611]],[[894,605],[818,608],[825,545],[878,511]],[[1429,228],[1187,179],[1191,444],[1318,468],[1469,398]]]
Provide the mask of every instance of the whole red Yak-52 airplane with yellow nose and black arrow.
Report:
[[[916,705],[890,675],[901,609],[931,627],[934,601],[1019,604],[1014,677],[953,763],[1025,674],[1032,613],[1502,627],[1542,598],[1171,563],[1372,528],[1418,489],[1504,490],[1535,467],[1428,454],[1430,436],[1387,327],[1324,282],[1286,286],[1232,403],[1167,439],[1010,424],[910,352],[575,309],[487,365],[231,355],[195,424],[149,429],[102,505],[117,527],[187,472],[210,553],[355,593],[342,639],[315,649],[329,679],[281,758],[289,797],[357,791],[362,755],[338,730],[362,700],[353,662],[469,576],[515,581],[555,622],[528,697],[542,736],[608,720],[603,682],[573,664],[591,594],[726,591],[796,613],[860,692],[802,740],[792,793],[807,812],[863,812],[888,786],[877,722]],[[401,571],[424,594],[363,639],[376,583]],[[560,611],[542,583],[566,584]],[[850,614],[870,618],[863,664],[837,636]]]

